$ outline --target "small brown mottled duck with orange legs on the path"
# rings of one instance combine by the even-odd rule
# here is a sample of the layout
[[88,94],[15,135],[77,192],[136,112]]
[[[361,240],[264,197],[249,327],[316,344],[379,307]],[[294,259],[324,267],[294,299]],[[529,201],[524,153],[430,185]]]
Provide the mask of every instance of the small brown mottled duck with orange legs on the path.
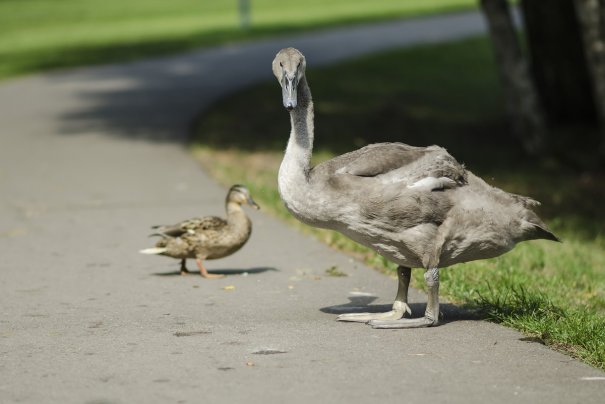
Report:
[[155,232],[151,236],[160,236],[161,239],[155,247],[140,252],[179,258],[181,275],[189,272],[186,259],[193,258],[204,278],[221,278],[223,275],[209,274],[203,260],[226,257],[246,244],[252,232],[252,222],[242,209],[243,204],[259,209],[246,187],[234,185],[229,189],[225,202],[227,220],[208,216],[171,226],[153,226]]

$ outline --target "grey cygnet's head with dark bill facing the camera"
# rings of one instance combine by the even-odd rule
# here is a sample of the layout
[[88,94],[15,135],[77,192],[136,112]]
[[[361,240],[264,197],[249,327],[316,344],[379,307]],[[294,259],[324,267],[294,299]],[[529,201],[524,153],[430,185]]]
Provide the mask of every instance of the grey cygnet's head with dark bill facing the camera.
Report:
[[307,62],[298,49],[285,48],[277,52],[273,59],[273,74],[282,88],[284,107],[292,111],[298,104],[296,90],[305,75]]

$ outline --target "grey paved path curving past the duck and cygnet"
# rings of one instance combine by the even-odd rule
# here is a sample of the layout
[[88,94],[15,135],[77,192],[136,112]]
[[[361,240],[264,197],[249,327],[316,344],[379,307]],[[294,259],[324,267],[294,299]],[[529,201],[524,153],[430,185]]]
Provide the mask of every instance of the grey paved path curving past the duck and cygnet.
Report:
[[396,281],[262,211],[241,252],[209,263],[224,279],[137,253],[151,224],[222,214],[188,125],[270,78],[281,47],[318,66],[483,29],[463,13],[2,83],[0,402],[601,402],[602,372],[451,305],[434,329],[334,321],[386,309]]

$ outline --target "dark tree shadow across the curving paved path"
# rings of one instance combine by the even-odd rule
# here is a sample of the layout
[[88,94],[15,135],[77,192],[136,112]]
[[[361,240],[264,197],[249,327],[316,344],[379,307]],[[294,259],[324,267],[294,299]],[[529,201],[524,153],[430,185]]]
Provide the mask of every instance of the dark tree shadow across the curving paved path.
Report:
[[[58,111],[59,133],[109,134],[153,142],[186,142],[195,116],[218,99],[272,80],[271,60],[286,46],[314,67],[419,43],[484,32],[476,11],[388,21],[231,44],[182,55],[44,76]],[[162,46],[158,44],[158,46]],[[39,83],[38,83],[39,84]],[[30,89],[31,90],[31,89]],[[35,89],[33,91],[36,91]],[[37,99],[24,94],[24,99]]]

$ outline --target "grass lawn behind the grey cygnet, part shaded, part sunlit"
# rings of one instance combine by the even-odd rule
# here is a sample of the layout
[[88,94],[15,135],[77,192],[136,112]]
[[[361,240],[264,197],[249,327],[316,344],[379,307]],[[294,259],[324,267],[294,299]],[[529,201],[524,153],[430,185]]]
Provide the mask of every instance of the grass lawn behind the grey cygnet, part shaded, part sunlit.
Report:
[[[605,369],[605,190],[598,186],[605,178],[521,153],[506,131],[488,42],[422,46],[322,69],[308,63],[316,161],[372,142],[440,144],[488,182],[542,201],[541,216],[564,243],[526,242],[496,259],[447,268],[442,295]],[[264,209],[393,271],[372,251],[285,211],[276,173],[289,125],[277,82],[261,84],[201,117],[194,154],[219,181],[249,186]],[[414,273],[423,288],[422,271]]]

